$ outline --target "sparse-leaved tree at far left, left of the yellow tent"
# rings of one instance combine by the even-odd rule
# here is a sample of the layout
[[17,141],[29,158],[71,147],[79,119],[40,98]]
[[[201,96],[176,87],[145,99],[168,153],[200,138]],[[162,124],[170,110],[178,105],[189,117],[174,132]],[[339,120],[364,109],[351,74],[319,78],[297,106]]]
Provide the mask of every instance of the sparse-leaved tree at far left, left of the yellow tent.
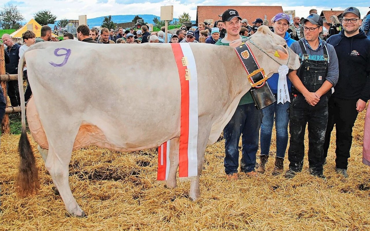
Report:
[[18,29],[20,21],[24,20],[17,6],[13,4],[4,5],[0,11],[0,27],[3,29]]

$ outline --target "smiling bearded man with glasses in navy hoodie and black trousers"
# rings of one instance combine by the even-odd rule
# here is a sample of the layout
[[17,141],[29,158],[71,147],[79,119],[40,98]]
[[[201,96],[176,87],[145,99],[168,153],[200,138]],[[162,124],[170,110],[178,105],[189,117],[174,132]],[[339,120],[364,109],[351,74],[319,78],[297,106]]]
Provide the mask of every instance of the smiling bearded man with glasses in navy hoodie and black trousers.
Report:
[[352,128],[357,114],[370,98],[370,40],[360,30],[360,12],[355,7],[344,10],[343,30],[327,43],[334,46],[339,61],[339,79],[329,100],[329,119],[325,135],[324,157],[330,133],[336,128],[336,173],[348,177],[347,165],[352,145]]

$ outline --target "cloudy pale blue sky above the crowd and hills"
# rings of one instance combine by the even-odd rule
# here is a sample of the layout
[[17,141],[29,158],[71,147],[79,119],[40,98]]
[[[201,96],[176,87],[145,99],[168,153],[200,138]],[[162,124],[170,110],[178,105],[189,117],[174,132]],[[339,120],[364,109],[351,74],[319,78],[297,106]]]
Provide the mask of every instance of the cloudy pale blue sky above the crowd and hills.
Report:
[[[150,1],[150,3],[149,3]],[[134,3],[133,3],[134,2]],[[289,3],[288,3],[289,2]],[[282,6],[283,10],[296,10],[296,16],[306,17],[312,8],[320,14],[322,10],[343,10],[354,6],[359,8],[361,18],[369,11],[370,1],[342,0],[307,0],[307,1],[281,1],[281,0],[0,0],[0,6],[11,3],[18,6],[26,21],[33,18],[33,14],[39,10],[50,10],[62,18],[78,20],[79,15],[87,15],[87,18],[95,18],[107,15],[120,14],[154,14],[159,16],[161,6],[174,6],[174,17],[178,18],[183,12],[189,13],[191,20],[196,19],[197,6]],[[219,14],[221,12],[215,12]],[[253,18],[254,19],[254,18]],[[248,20],[253,20],[248,18]]]

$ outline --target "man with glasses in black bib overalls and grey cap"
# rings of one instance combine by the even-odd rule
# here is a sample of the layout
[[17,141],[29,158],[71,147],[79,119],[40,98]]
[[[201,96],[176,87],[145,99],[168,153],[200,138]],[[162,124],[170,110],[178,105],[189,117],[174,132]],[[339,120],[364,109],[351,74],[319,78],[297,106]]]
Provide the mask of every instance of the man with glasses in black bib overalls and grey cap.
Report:
[[324,136],[328,118],[328,99],[331,88],[338,81],[338,59],[334,47],[319,38],[323,20],[310,14],[302,20],[304,38],[291,45],[302,59],[301,67],[291,71],[293,99],[289,107],[290,145],[289,170],[286,178],[293,178],[302,171],[305,155],[305,131],[308,123],[308,161],[313,176],[326,180],[323,175]]

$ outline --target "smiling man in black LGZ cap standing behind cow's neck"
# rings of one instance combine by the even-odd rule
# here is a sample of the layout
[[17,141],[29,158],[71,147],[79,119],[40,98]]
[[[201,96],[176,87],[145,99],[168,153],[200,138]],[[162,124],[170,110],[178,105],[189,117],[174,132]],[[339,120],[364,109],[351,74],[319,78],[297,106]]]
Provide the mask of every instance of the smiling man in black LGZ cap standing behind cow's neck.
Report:
[[[239,35],[242,18],[238,11],[228,9],[222,14],[223,28],[226,37],[218,40],[215,45],[228,46],[230,42],[243,38]],[[252,121],[252,122],[251,122]],[[258,177],[255,171],[256,153],[258,150],[259,128],[262,121],[262,110],[257,110],[248,91],[239,102],[229,123],[223,129],[225,137],[225,173],[226,179],[238,180],[239,140],[242,135],[242,160],[240,171],[248,177]]]

